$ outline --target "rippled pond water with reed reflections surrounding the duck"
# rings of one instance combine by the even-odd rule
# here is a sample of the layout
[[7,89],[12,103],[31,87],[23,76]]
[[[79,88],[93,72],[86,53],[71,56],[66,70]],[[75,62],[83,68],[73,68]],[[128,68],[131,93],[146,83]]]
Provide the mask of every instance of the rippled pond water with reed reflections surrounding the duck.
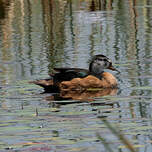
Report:
[[[95,54],[120,71],[112,95],[57,101],[28,83],[53,67],[88,68]],[[108,151],[98,135],[128,151],[105,117],[151,152],[151,60],[150,0],[0,0],[0,151]]]

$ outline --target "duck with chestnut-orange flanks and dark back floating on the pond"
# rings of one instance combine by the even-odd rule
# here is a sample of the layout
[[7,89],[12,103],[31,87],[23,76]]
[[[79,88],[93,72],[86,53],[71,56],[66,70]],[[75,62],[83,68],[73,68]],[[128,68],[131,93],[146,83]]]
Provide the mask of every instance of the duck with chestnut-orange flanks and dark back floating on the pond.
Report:
[[[87,90],[91,88],[116,88],[117,79],[105,69],[118,71],[112,61],[103,54],[93,56],[88,69],[54,68],[50,78],[31,81],[44,88],[45,93],[59,93],[69,90]],[[119,71],[118,71],[119,72]]]

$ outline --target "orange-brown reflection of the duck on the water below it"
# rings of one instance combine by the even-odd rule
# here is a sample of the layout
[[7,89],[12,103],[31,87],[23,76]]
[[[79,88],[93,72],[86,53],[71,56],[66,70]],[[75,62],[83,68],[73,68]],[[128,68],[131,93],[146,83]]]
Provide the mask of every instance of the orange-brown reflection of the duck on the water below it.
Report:
[[61,101],[61,100],[77,100],[77,101],[93,101],[95,97],[102,97],[107,95],[116,95],[117,88],[111,89],[94,89],[94,90],[74,90],[62,91],[60,94],[53,94],[47,97],[47,100]]

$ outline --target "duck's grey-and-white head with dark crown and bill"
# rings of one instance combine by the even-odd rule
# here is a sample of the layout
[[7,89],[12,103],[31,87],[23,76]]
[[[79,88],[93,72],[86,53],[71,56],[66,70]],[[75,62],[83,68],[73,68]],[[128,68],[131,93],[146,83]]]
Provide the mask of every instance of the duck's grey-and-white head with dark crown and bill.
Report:
[[102,54],[95,55],[89,66],[90,73],[96,77],[101,78],[101,74],[104,72],[104,69],[118,71],[113,67],[112,62],[109,58]]

